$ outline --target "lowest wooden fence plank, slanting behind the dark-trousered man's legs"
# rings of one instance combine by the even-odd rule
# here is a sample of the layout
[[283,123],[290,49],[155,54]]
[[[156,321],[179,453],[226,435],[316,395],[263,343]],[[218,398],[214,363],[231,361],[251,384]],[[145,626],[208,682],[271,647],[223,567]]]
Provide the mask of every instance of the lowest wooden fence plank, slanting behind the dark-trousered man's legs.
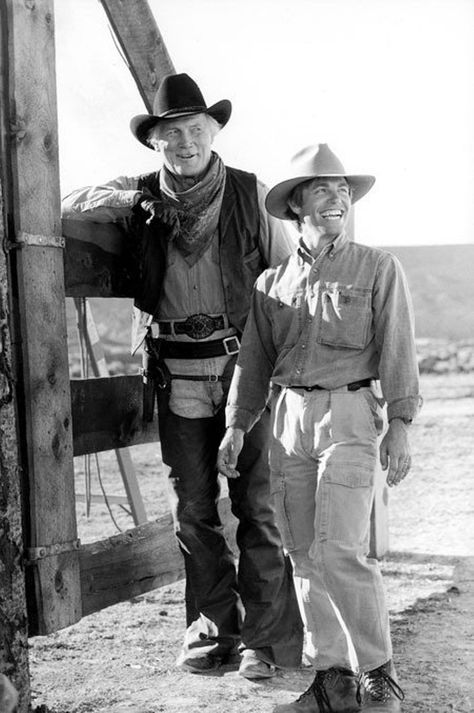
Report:
[[[237,553],[237,521],[228,498],[219,502],[219,513],[227,541]],[[108,540],[83,545],[79,556],[83,616],[184,577],[171,514]]]

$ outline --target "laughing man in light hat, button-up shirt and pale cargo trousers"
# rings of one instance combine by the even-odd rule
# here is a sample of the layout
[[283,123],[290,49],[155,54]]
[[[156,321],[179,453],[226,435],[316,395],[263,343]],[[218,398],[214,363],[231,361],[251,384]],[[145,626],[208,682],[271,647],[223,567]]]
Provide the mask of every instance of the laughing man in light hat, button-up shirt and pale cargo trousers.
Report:
[[293,170],[266,205],[298,223],[299,248],[257,280],[218,467],[231,482],[238,476],[244,434],[258,422],[271,380],[279,391],[273,494],[316,670],[297,701],[275,710],[395,712],[403,693],[381,575],[367,557],[383,426],[374,382],[388,404],[382,466],[396,485],[410,468],[407,432],[420,400],[412,308],[396,258],[345,233],[351,204],[375,179],[348,175],[326,144],[301,151]]

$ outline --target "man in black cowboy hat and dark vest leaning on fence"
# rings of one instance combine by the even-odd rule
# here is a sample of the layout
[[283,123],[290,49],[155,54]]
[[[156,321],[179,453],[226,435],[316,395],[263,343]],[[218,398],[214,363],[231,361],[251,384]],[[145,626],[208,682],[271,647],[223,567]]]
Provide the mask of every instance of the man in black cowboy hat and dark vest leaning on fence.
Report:
[[[293,249],[266,214],[266,189],[212,151],[231,113],[206,106],[191,77],[165,77],[153,114],[131,121],[159,151],[161,170],[74,191],[66,218],[134,223],[140,254],[133,349],[145,338],[159,394],[162,457],[170,467],[175,529],[186,568],[187,631],[178,663],[207,672],[235,658],[240,673],[270,677],[301,660],[303,625],[269,498],[268,422],[246,437],[230,484],[239,520],[238,572],[217,511],[216,456],[224,404],[253,283]],[[242,607],[243,605],[243,607]]]

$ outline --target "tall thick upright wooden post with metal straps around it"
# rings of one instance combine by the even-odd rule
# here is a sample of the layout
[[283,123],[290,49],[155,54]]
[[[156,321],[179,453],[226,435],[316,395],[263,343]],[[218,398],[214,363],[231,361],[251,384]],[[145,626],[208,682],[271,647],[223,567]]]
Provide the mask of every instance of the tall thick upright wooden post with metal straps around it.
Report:
[[[77,536],[63,251],[54,247],[61,236],[54,15],[53,0],[7,6],[12,224],[22,245],[12,252],[24,387],[25,544],[38,547]],[[80,596],[77,552],[35,561],[28,574],[30,634],[76,622]]]

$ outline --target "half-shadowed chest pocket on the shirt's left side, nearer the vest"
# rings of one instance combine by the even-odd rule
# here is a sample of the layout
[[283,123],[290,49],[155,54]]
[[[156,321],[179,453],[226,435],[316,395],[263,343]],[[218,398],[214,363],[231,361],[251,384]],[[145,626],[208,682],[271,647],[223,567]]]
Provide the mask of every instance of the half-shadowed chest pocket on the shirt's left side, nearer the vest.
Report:
[[266,311],[272,325],[273,343],[277,351],[292,347],[302,328],[304,293],[292,291],[268,298]]

